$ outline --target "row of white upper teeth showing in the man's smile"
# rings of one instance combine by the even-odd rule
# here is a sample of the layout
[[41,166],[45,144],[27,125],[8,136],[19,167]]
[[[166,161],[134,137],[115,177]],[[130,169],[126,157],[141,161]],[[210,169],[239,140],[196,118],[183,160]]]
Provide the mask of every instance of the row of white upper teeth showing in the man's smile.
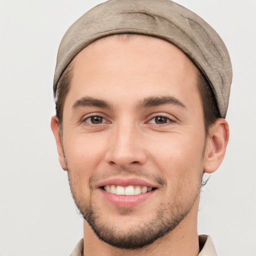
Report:
[[129,185],[129,186],[119,186],[119,185],[106,185],[104,186],[104,190],[112,193],[112,194],[117,194],[117,195],[134,195],[134,194],[141,194],[141,193],[146,193],[150,192],[152,190],[152,187],[147,187],[137,185]]

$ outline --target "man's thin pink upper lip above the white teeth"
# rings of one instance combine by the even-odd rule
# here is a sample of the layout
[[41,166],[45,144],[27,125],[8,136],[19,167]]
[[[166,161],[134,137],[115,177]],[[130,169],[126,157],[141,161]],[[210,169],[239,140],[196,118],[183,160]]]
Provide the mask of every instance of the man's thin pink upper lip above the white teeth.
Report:
[[100,181],[97,183],[97,187],[102,187],[106,185],[119,185],[119,186],[128,186],[128,185],[142,185],[147,187],[158,187],[156,183],[149,182],[145,179],[138,177],[111,177]]

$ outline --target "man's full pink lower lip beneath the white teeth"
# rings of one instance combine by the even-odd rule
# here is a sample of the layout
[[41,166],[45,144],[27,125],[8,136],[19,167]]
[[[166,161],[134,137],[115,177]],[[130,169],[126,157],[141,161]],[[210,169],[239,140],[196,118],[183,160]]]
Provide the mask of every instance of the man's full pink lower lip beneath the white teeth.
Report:
[[103,189],[100,189],[103,196],[113,205],[117,207],[133,207],[142,203],[155,193],[157,189],[151,190],[150,192],[135,194],[135,195],[118,195],[109,193]]

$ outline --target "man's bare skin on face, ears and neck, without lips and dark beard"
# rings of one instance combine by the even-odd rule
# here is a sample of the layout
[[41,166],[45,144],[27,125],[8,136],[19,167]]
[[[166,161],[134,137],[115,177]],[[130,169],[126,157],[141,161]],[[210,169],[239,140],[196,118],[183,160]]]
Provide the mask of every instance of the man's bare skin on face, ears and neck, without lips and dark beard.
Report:
[[[61,136],[55,116],[51,128],[78,208],[91,206],[96,222],[114,227],[111,232],[118,237],[135,235],[138,225],[155,222],[159,210],[168,224],[180,216],[171,231],[136,250],[102,242],[84,220],[84,254],[197,255],[201,176],[203,170],[218,168],[228,141],[222,118],[205,135],[197,68],[176,46],[147,36],[100,39],[72,62]],[[166,95],[174,101],[141,104],[145,98]],[[93,105],[75,105],[83,97],[109,106],[95,100]],[[91,116],[103,117],[102,122],[91,123]],[[156,123],[157,116],[164,117],[162,123]],[[157,189],[138,205],[116,206],[98,187],[112,177],[139,178]]]

